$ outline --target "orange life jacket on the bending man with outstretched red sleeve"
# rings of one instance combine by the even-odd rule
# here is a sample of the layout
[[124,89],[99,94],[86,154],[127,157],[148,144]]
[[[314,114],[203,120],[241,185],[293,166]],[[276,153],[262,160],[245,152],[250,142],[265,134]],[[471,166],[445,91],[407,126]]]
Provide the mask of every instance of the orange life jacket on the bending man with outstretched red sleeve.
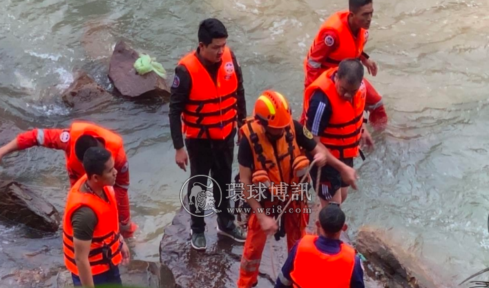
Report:
[[108,151],[111,151],[114,159],[117,157],[119,150],[124,149],[122,137],[119,135],[95,124],[84,122],[73,123],[70,128],[69,152],[66,153],[66,169],[68,169],[68,175],[72,184],[85,174],[83,164],[78,160],[77,155],[75,154],[75,143],[81,135],[91,135],[93,137],[104,139],[105,148]]

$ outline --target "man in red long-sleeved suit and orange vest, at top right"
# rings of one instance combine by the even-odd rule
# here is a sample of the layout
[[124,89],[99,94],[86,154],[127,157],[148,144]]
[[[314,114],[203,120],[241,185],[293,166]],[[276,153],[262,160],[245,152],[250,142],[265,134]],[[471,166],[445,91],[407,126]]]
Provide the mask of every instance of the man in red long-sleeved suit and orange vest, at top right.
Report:
[[[372,0],[349,0],[349,11],[336,12],[323,23],[304,61],[305,88],[325,70],[337,67],[341,60],[347,58],[361,59],[368,73],[377,75],[377,64],[363,52],[373,13]],[[369,122],[374,128],[385,128],[387,114],[382,97],[367,79],[364,82]],[[304,123],[304,118],[305,111],[300,118],[301,123]]]

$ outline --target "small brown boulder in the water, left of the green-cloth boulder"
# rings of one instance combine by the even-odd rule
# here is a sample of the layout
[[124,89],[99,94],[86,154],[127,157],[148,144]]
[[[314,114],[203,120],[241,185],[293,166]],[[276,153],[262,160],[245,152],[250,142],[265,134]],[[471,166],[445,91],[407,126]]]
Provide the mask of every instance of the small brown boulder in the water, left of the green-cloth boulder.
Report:
[[112,95],[85,72],[79,72],[75,81],[61,94],[61,99],[70,108],[86,111],[91,107],[100,108],[107,104]]

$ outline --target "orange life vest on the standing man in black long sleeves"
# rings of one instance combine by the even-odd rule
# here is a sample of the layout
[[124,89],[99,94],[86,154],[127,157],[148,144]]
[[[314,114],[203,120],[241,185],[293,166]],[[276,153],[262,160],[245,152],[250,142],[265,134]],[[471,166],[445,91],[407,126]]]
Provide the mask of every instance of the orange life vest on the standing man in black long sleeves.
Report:
[[192,88],[182,113],[182,130],[187,138],[224,140],[236,127],[238,77],[231,50],[224,48],[217,85],[191,52],[178,62],[189,71]]

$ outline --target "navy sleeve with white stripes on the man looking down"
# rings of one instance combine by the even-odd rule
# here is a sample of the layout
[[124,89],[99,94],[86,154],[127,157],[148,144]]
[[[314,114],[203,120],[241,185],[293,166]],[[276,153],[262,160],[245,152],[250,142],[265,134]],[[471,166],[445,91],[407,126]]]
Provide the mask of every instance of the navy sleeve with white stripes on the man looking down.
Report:
[[331,104],[323,90],[316,90],[309,99],[309,108],[307,109],[306,127],[312,135],[318,136],[325,131],[329,119],[332,115]]

